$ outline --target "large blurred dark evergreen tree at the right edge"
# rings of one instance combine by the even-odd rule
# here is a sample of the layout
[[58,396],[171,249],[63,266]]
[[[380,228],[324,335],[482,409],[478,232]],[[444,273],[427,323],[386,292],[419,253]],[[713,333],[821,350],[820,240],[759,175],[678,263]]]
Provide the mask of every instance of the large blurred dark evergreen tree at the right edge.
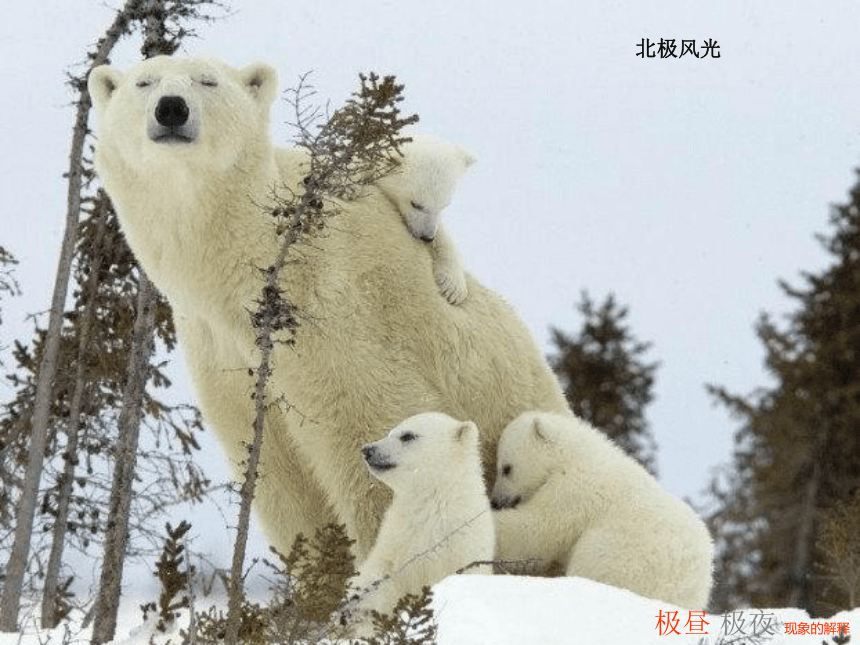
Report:
[[[803,273],[800,287],[780,283],[796,303],[784,327],[767,314],[757,323],[774,385],[747,396],[709,388],[741,421],[732,481],[711,518],[724,556],[717,580],[731,586],[719,595],[815,615],[850,607],[844,585],[822,575],[832,562],[821,545],[823,520],[860,487],[860,182],[830,224],[818,239],[832,264]],[[738,526],[745,553],[727,537]]]

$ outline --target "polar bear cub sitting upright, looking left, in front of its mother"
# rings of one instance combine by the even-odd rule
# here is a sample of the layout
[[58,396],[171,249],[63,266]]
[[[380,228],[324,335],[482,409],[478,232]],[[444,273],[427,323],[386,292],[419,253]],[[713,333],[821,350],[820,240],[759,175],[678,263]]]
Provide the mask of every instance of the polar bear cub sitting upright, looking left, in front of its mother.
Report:
[[[474,423],[439,412],[418,414],[361,452],[394,497],[353,583],[367,590],[360,612],[387,612],[404,594],[492,560],[493,514]],[[480,565],[467,573],[491,569]]]

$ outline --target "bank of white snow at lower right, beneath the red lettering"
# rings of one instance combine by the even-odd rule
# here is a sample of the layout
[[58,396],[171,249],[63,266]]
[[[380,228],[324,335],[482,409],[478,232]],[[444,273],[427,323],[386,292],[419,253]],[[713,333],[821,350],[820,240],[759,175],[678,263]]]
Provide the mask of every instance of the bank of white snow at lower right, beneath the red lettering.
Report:
[[[721,615],[704,616],[709,624],[693,630],[685,626],[687,610],[584,578],[457,576],[436,585],[435,594],[439,645],[668,645],[698,643],[703,638],[717,643],[725,635]],[[671,617],[678,618],[680,634],[660,635],[657,623],[661,611],[664,616],[678,612]],[[774,614],[773,623],[839,621],[849,623],[849,633],[855,625],[860,629],[860,609],[826,621],[810,621],[799,609],[747,609],[736,614],[736,625],[744,620],[746,635],[751,636],[753,618],[762,613],[766,617]],[[786,635],[781,624],[773,631],[775,634],[766,637],[765,643],[821,645],[822,640],[829,642],[830,638]],[[739,635],[735,632],[728,639]]]

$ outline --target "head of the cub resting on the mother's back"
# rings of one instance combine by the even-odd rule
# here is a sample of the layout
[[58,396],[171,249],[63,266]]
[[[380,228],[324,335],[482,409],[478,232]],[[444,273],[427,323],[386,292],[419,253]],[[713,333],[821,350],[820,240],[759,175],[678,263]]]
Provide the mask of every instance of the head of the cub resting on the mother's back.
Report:
[[400,211],[409,231],[432,242],[442,211],[451,203],[457,182],[475,158],[453,143],[427,134],[410,135],[402,146],[400,166],[378,186]]

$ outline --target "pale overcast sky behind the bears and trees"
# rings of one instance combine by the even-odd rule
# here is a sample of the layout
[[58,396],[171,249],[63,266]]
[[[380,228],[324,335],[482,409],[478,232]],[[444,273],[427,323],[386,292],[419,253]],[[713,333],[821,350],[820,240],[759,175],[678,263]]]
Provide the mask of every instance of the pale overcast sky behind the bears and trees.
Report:
[[[112,9],[9,3],[0,26],[6,246],[24,296],[3,302],[3,344],[47,309],[62,234],[72,111],[65,72]],[[116,0],[112,4],[120,4]],[[785,312],[776,285],[823,266],[814,241],[860,161],[856,2],[351,0],[235,2],[189,54],[263,60],[281,85],[313,70],[340,104],[360,71],[394,73],[416,131],[478,159],[445,219],[467,268],[549,350],[582,289],[630,307],[661,361],[648,417],[660,479],[700,499],[736,423],[705,383],[767,383],[753,332]],[[639,43],[713,39],[720,58],[639,58]],[[132,64],[137,40],[114,62]],[[680,47],[679,47],[680,51]],[[288,143],[286,105],[273,137]],[[181,361],[178,370],[181,371]],[[3,396],[6,394],[4,393]],[[216,449],[212,449],[217,453]],[[217,459],[217,457],[216,457]]]

